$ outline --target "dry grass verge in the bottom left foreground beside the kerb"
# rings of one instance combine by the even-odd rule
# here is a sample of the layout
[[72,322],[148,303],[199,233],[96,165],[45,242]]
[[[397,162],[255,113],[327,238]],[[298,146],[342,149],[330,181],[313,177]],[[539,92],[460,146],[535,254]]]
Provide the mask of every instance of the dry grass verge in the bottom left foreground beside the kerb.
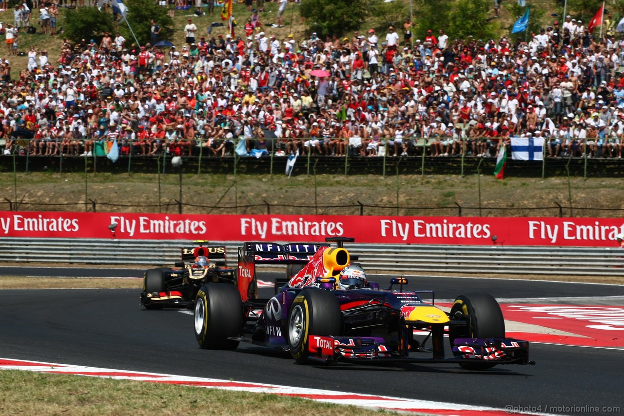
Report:
[[396,414],[274,394],[27,371],[0,371],[0,414],[267,415]]

